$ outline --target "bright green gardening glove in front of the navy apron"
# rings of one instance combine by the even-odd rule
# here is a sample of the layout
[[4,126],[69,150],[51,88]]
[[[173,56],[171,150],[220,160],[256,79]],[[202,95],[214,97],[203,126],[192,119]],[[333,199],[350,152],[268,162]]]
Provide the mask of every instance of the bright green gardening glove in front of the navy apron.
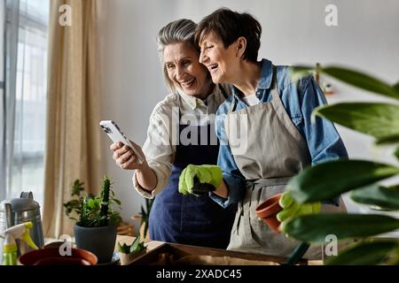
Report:
[[179,193],[203,195],[222,183],[222,169],[217,165],[189,164],[179,178]]

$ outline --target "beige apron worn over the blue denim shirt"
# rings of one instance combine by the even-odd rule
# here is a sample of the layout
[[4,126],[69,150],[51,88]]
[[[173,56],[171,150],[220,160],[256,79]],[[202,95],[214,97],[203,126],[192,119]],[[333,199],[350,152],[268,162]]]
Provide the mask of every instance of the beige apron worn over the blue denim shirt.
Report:
[[[255,214],[258,204],[283,192],[288,180],[311,164],[307,143],[278,96],[275,77],[276,71],[270,103],[259,103],[239,111],[233,111],[235,105],[231,103],[224,121],[231,153],[246,178],[246,195],[239,203],[227,249],[289,256],[299,242],[286,238],[283,233],[275,233]],[[243,128],[246,129],[242,131]],[[238,141],[246,144],[237,146]],[[346,211],[342,200],[340,204],[340,207],[323,205],[322,210]],[[321,246],[312,246],[305,257],[321,258]]]

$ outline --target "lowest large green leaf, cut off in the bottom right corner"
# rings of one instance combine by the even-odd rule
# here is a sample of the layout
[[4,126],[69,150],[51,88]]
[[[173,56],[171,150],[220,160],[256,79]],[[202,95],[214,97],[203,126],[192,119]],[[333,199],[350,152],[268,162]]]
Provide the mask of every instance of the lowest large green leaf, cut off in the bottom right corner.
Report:
[[327,260],[327,265],[383,264],[391,253],[399,249],[399,241],[362,242]]

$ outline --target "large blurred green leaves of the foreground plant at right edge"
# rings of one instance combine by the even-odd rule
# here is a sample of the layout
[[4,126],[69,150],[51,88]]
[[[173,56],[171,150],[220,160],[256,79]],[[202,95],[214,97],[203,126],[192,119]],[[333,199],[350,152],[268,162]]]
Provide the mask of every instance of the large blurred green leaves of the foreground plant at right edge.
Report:
[[[337,66],[317,65],[317,72],[332,76],[357,88],[393,98],[392,103],[338,103],[325,105],[317,116],[375,138],[375,144],[389,145],[399,159],[399,83],[391,86],[370,75]],[[310,67],[294,67],[293,75]],[[395,160],[395,159],[394,159]],[[375,237],[399,229],[399,219],[386,211],[399,210],[399,184],[383,186],[379,181],[399,175],[399,167],[367,160],[336,160],[311,166],[287,185],[298,203],[331,200],[351,191],[356,203],[369,205],[373,214],[329,214],[299,216],[287,221],[285,233],[309,243],[325,242],[327,235],[356,243],[332,256],[326,264],[399,264],[399,240]]]

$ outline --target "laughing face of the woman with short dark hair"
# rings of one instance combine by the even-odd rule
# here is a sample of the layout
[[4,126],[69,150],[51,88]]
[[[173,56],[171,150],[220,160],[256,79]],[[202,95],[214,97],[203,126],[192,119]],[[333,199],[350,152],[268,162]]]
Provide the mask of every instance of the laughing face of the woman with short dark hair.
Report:
[[217,34],[211,32],[202,36],[200,49],[200,63],[207,66],[212,80],[215,83],[234,84],[234,77],[239,73],[241,56],[238,42],[233,42],[228,48],[224,48]]

